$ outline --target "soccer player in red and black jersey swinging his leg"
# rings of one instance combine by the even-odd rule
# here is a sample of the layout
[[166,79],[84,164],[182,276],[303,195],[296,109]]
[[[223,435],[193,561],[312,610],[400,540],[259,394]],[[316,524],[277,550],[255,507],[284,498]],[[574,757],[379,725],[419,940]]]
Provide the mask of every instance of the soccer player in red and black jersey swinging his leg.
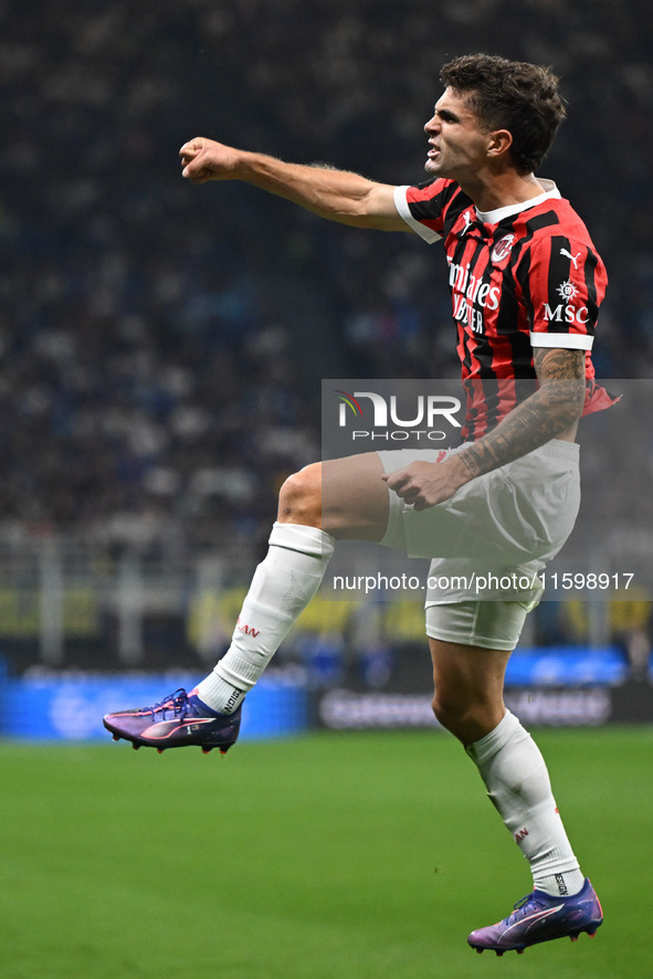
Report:
[[555,75],[467,55],[444,65],[441,81],[424,126],[429,180],[419,187],[286,164],[207,138],[181,148],[192,183],[243,180],[323,218],[442,242],[467,394],[465,441],[445,453],[370,452],[292,475],[224,657],[190,694],[107,715],[105,725],[135,747],[229,749],[246,692],[315,594],[339,539],[431,557],[432,575],[446,569],[459,583],[474,570],[510,571],[507,591],[430,591],[425,610],[435,716],[478,767],[533,873],[533,893],[467,939],[503,955],[593,935],[602,922],[545,761],[506,710],[503,685],[540,598],[537,571],[578,510],[579,418],[611,403],[590,359],[607,277],[580,218],[554,183],[535,176],[565,116]]

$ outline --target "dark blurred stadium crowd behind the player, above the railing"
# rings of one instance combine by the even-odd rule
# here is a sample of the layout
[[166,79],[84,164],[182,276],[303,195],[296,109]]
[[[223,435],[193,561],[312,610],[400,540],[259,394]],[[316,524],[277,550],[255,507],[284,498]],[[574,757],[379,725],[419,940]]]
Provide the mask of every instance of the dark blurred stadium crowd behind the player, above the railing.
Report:
[[[251,188],[193,188],[202,134],[422,179],[438,69],[552,64],[543,173],[611,277],[603,378],[653,371],[653,65],[643,0],[2,0],[0,541],[256,548],[319,457],[324,377],[452,377],[441,256]],[[638,15],[639,14],[639,15]]]

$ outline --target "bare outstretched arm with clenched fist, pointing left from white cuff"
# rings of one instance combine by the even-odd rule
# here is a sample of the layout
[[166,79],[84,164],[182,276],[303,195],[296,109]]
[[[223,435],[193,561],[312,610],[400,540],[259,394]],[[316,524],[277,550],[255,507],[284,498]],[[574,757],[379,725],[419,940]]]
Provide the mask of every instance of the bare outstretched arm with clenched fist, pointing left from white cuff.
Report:
[[180,149],[182,175],[192,183],[242,180],[299,204],[320,218],[355,228],[410,231],[394,207],[394,187],[326,166],[286,164],[197,137]]

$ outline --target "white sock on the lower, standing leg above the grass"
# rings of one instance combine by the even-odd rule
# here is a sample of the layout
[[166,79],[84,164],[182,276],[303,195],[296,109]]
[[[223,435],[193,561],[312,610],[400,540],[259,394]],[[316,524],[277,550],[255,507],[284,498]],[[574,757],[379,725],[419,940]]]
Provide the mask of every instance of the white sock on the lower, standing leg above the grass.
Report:
[[529,862],[535,887],[555,896],[577,894],[584,877],[558,813],[545,760],[528,731],[508,710],[466,751]]

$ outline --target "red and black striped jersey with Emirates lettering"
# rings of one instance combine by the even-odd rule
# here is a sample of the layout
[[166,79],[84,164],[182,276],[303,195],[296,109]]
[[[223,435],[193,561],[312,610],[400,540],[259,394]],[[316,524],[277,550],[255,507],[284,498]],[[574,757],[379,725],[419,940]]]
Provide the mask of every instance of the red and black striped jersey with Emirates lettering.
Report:
[[[533,200],[477,211],[453,180],[398,187],[397,210],[426,242],[442,239],[466,439],[494,428],[535,389],[534,347],[586,351],[584,413],[613,399],[594,382],[590,351],[608,283],[589,232],[551,181]],[[518,383],[522,382],[522,383]]]

